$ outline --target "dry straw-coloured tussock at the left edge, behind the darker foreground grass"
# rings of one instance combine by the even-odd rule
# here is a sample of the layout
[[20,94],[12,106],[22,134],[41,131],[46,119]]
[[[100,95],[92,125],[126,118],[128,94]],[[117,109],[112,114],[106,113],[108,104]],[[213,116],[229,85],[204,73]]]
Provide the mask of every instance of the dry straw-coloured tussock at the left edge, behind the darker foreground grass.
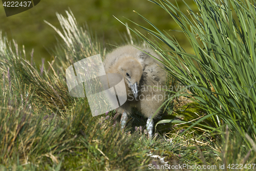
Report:
[[31,105],[44,105],[53,112],[66,109],[72,97],[67,92],[65,75],[60,74],[52,67],[54,59],[49,62],[46,68],[44,60],[38,69],[33,62],[33,51],[30,61],[27,59],[23,48],[21,51],[13,40],[9,42],[1,34],[1,72],[3,78],[8,79],[9,86],[17,86],[18,96],[25,101],[25,98],[34,93]]

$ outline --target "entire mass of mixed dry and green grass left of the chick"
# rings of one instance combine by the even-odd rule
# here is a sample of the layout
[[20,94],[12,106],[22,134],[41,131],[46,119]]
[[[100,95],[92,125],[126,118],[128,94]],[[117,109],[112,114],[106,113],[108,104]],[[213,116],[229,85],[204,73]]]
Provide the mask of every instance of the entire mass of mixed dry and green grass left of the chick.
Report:
[[[68,18],[57,16],[64,32],[78,27],[71,14]],[[69,33],[65,35],[69,44],[64,41],[49,66],[42,62],[39,68],[33,62],[33,53],[29,61],[15,41],[0,37],[0,169],[145,167],[134,163],[146,164],[150,158],[145,146],[138,143],[140,134],[121,133],[118,123],[113,126],[108,120],[92,117],[86,99],[69,95],[65,69],[72,62],[101,52],[82,28]]]

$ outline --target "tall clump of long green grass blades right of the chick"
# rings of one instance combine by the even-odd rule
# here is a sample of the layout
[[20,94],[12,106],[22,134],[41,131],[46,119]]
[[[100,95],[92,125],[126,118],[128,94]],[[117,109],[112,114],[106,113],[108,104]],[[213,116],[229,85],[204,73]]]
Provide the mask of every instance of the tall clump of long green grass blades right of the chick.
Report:
[[[191,124],[184,133],[195,125],[201,125],[202,120],[211,118],[214,125],[205,125],[210,133],[225,131],[224,128],[228,125],[234,137],[240,137],[240,140],[236,139],[237,148],[245,146],[246,148],[242,150],[243,155],[248,153],[248,156],[254,156],[255,143],[253,142],[256,141],[255,2],[195,0],[199,12],[194,12],[187,5],[187,15],[169,1],[151,2],[161,7],[175,20],[194,50],[193,54],[185,52],[182,45],[169,36],[168,32],[160,31],[139,14],[155,30],[137,25],[163,44],[148,39],[140,32],[134,32],[165,59],[168,72],[186,86],[192,93],[191,99],[196,101],[199,108],[207,114]],[[160,122],[172,122],[172,120]],[[218,139],[219,136],[215,138]],[[225,142],[225,138],[223,140]]]

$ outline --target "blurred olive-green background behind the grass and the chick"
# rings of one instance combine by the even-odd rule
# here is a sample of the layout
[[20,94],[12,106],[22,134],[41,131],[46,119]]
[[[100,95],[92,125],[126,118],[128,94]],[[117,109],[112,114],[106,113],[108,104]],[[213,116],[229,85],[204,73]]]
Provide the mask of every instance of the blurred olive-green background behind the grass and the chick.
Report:
[[[175,1],[172,0],[172,2]],[[187,2],[191,4],[190,1]],[[185,10],[183,3],[179,2],[179,4]],[[154,22],[158,22],[158,19],[161,18],[161,22],[159,22],[160,29],[168,31],[177,28],[177,26],[173,25],[173,21],[170,20],[171,18],[168,14],[163,14],[156,6],[148,5],[147,1],[138,3],[136,0],[87,0],[79,2],[44,0],[30,10],[9,17],[6,17],[4,8],[1,7],[0,30],[4,34],[7,33],[9,39],[15,39],[19,45],[25,45],[27,52],[31,52],[34,49],[34,58],[38,65],[41,62],[41,58],[45,58],[47,61],[52,60],[52,47],[57,44],[56,32],[46,25],[44,20],[58,27],[55,13],[65,14],[65,10],[69,8],[73,11],[78,23],[81,25],[86,25],[87,23],[92,33],[97,34],[97,37],[99,37],[102,46],[106,47],[109,47],[106,43],[114,45],[123,43],[120,35],[125,32],[125,27],[113,15],[118,18],[125,16],[136,22],[143,22],[143,19],[132,12],[133,10],[138,10]],[[152,15],[153,11],[154,15]],[[183,41],[179,37],[177,35],[177,39]],[[189,46],[185,41],[183,44]]]

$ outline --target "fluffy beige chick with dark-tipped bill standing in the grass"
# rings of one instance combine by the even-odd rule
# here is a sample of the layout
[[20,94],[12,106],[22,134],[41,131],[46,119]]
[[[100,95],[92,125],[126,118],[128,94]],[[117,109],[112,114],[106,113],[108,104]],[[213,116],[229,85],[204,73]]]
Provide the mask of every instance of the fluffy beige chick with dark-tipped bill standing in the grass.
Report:
[[117,48],[106,55],[104,69],[106,74],[121,74],[125,81],[127,101],[116,109],[117,113],[122,114],[121,128],[124,129],[127,115],[131,114],[134,106],[148,118],[146,127],[148,136],[152,138],[153,119],[159,111],[155,116],[154,114],[164,100],[165,92],[161,88],[165,86],[166,71],[160,61],[148,54],[162,60],[149,48],[131,45]]

